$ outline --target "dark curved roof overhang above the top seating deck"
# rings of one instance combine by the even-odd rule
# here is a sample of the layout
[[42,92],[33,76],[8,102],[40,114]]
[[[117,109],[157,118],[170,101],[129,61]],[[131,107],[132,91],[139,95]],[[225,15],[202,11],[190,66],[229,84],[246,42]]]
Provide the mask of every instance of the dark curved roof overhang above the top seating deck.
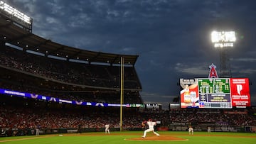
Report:
[[23,50],[32,50],[43,53],[44,55],[53,55],[63,57],[67,60],[83,60],[88,63],[99,62],[110,65],[120,64],[120,58],[124,58],[124,65],[134,66],[139,55],[122,55],[107,52],[94,52],[73,48],[51,40],[42,38],[30,33],[23,28],[11,23],[8,18],[1,16],[0,13],[0,40],[1,43],[10,43]]

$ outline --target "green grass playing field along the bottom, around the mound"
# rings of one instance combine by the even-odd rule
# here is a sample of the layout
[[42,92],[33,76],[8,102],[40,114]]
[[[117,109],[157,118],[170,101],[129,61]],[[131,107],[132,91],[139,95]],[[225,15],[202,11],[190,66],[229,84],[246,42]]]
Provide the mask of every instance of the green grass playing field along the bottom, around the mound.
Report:
[[[97,133],[63,133],[62,135],[39,135],[39,136],[20,136],[0,138],[0,144],[80,144],[80,143],[96,143],[96,144],[137,144],[137,143],[172,143],[172,144],[255,144],[256,133],[207,133],[207,132],[194,132],[194,135],[188,135],[188,132],[166,132],[159,131],[161,136],[159,140],[150,140],[156,138],[152,133],[148,133],[146,138],[141,138],[142,131],[124,131],[112,132],[110,135],[97,132]],[[183,138],[183,140],[161,140],[164,137]],[[131,140],[136,138],[137,140]]]

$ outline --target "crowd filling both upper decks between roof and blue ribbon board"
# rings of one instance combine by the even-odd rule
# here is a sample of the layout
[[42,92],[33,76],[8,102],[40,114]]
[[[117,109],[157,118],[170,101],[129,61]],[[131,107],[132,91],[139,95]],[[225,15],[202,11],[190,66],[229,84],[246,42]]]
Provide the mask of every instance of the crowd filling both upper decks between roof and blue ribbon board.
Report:
[[[54,60],[8,47],[1,49],[0,55],[2,89],[73,101],[119,104],[119,67]],[[125,67],[125,70],[124,88],[132,90],[124,91],[124,103],[142,104],[138,87],[132,84],[139,84],[134,67]]]

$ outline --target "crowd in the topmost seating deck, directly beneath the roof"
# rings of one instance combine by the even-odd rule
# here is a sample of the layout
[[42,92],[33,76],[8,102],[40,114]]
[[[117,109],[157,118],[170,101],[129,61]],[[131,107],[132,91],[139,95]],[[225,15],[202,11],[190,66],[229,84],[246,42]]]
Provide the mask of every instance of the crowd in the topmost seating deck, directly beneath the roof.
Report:
[[[119,88],[119,67],[57,60],[15,48],[0,50],[0,65],[69,84]],[[124,67],[124,88],[141,89],[134,67]]]

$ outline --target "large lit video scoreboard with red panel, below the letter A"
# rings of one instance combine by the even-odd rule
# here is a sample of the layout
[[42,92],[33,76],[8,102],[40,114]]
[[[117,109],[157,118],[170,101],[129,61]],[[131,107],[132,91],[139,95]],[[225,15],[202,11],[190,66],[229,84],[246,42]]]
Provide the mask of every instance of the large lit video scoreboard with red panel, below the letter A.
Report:
[[181,108],[232,109],[250,106],[247,78],[180,79]]

